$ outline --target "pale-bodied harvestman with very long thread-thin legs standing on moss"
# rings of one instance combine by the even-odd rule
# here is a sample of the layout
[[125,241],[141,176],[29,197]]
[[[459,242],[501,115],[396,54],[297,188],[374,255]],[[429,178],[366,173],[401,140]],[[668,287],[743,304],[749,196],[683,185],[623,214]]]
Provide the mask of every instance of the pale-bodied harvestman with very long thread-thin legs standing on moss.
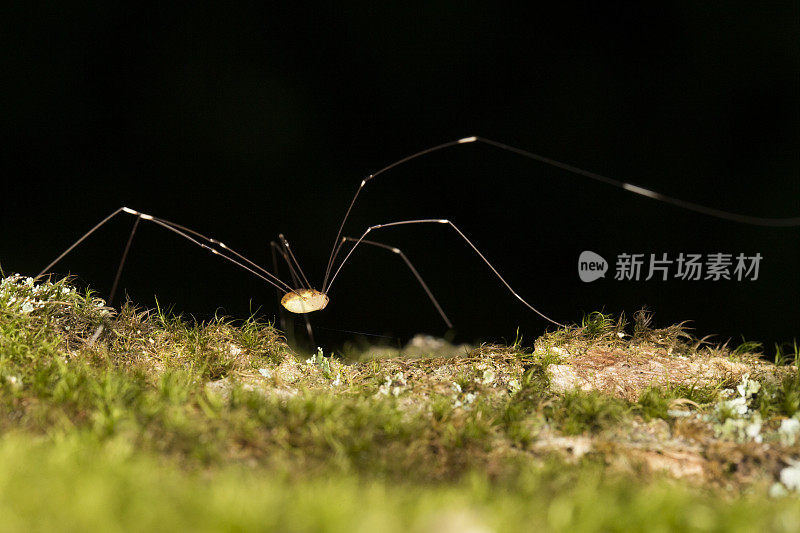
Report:
[[[281,305],[285,307],[288,311],[292,313],[301,313],[304,316],[307,313],[311,313],[313,311],[319,311],[324,309],[329,302],[328,293],[333,286],[333,282],[336,280],[336,277],[341,272],[342,267],[347,263],[347,260],[350,259],[350,256],[356,250],[356,248],[360,244],[368,244],[372,246],[377,246],[380,248],[387,249],[395,254],[399,255],[400,258],[406,263],[406,265],[411,270],[414,277],[417,279],[425,293],[428,295],[428,298],[431,300],[431,303],[436,307],[436,310],[441,315],[442,319],[447,324],[448,328],[452,327],[452,323],[450,319],[447,318],[447,315],[442,310],[442,307],[439,305],[439,302],[433,296],[433,293],[430,291],[428,286],[420,276],[417,269],[411,264],[405,254],[399,249],[393,246],[388,246],[386,244],[382,244],[376,241],[367,240],[367,236],[378,229],[381,228],[388,228],[392,226],[402,226],[402,225],[409,225],[409,224],[446,224],[451,227],[466,243],[469,245],[472,250],[478,254],[478,257],[483,260],[484,263],[489,267],[489,269],[494,273],[495,276],[500,280],[500,282],[513,294],[520,302],[522,302],[526,307],[528,307],[531,311],[545,319],[546,321],[562,327],[563,324],[556,322],[555,320],[547,317],[543,313],[541,313],[538,309],[533,307],[529,304],[525,299],[522,298],[516,291],[508,284],[508,282],[500,275],[500,273],[495,269],[495,267],[489,262],[488,259],[481,253],[480,250],[473,244],[473,242],[466,236],[464,233],[455,225],[453,222],[447,219],[437,219],[437,218],[430,218],[430,219],[417,219],[417,220],[401,220],[398,222],[389,222],[385,224],[376,224],[374,226],[368,227],[359,238],[352,238],[352,237],[343,237],[342,231],[344,230],[345,223],[347,222],[347,218],[350,216],[350,212],[353,209],[353,205],[355,204],[356,200],[358,199],[361,190],[369,183],[372,179],[378,177],[380,174],[391,170],[392,168],[411,161],[412,159],[416,159],[420,156],[430,154],[431,152],[436,152],[438,150],[442,150],[444,148],[448,148],[451,146],[457,146],[461,144],[469,144],[469,143],[483,143],[489,146],[493,146],[495,148],[499,148],[501,150],[506,150],[508,152],[512,152],[517,155],[521,155],[523,157],[527,157],[529,159],[533,159],[539,161],[540,163],[544,163],[561,170],[565,170],[572,174],[577,174],[579,176],[589,178],[595,181],[599,181],[605,183],[607,185],[611,185],[613,187],[617,187],[619,189],[623,189],[628,192],[632,192],[635,194],[639,194],[642,196],[646,196],[648,198],[652,198],[654,200],[658,200],[660,202],[665,202],[668,204],[672,204],[676,207],[687,209],[690,211],[696,211],[698,213],[702,213],[708,216],[721,218],[724,220],[729,220],[733,222],[740,222],[743,224],[755,225],[755,226],[768,226],[768,227],[793,227],[793,226],[800,226],[800,217],[792,217],[792,218],[762,218],[762,217],[754,217],[748,215],[739,215],[736,213],[730,213],[727,211],[722,211],[719,209],[706,207],[703,205],[699,205],[693,202],[688,202],[685,200],[680,200],[677,198],[673,198],[670,196],[665,196],[663,194],[657,193],[655,191],[651,191],[649,189],[645,189],[643,187],[639,187],[637,185],[633,185],[630,183],[625,183],[619,180],[615,180],[612,178],[608,178],[606,176],[602,176],[600,174],[596,174],[594,172],[589,172],[587,170],[583,170],[572,165],[568,165],[566,163],[562,163],[560,161],[556,161],[547,157],[543,157],[532,152],[528,152],[527,150],[522,150],[520,148],[515,148],[513,146],[509,146],[507,144],[503,144],[497,141],[492,141],[490,139],[485,139],[483,137],[465,137],[463,139],[459,139],[457,141],[451,141],[444,144],[439,144],[436,146],[432,146],[420,152],[416,152],[411,154],[407,157],[404,157],[398,161],[395,161],[391,165],[388,165],[379,171],[375,172],[374,174],[370,174],[365,179],[361,181],[361,184],[358,186],[353,199],[350,201],[350,205],[345,212],[344,218],[342,219],[341,224],[339,225],[339,230],[336,234],[336,238],[333,243],[333,248],[331,249],[331,253],[328,259],[328,265],[325,268],[325,277],[322,281],[322,287],[320,290],[314,289],[311,286],[311,283],[308,281],[305,273],[303,272],[302,268],[300,268],[300,264],[298,263],[297,259],[295,258],[294,254],[292,253],[292,249],[289,246],[289,242],[284,238],[283,235],[278,235],[278,239],[280,240],[280,244],[275,243],[274,241],[271,243],[272,250],[273,250],[273,260],[275,259],[274,252],[277,252],[286,262],[289,272],[292,277],[292,281],[294,286],[289,285],[285,281],[281,280],[275,273],[268,271],[267,269],[257,265],[253,261],[247,259],[245,256],[240,254],[239,252],[233,250],[225,243],[218,241],[216,239],[212,239],[210,237],[206,237],[205,235],[187,228],[185,226],[181,226],[180,224],[175,224],[174,222],[170,222],[168,220],[155,217],[153,215],[148,215],[145,213],[141,213],[139,211],[135,211],[128,207],[120,207],[106,218],[101,220],[97,225],[95,225],[92,229],[87,231],[80,239],[75,241],[69,248],[67,248],[61,255],[59,255],[55,260],[53,260],[49,265],[47,265],[42,271],[38,274],[38,276],[42,276],[46,272],[48,272],[56,263],[61,261],[69,252],[71,252],[76,246],[78,246],[81,242],[83,242],[87,237],[89,237],[92,233],[98,230],[101,226],[103,226],[106,222],[114,218],[119,213],[127,213],[130,215],[134,215],[136,217],[136,221],[133,224],[133,229],[131,230],[130,236],[128,237],[128,242],[125,246],[125,250],[122,254],[122,259],[120,261],[119,267],[117,268],[117,273],[114,278],[114,283],[111,287],[111,292],[109,296],[109,304],[113,301],[114,295],[117,290],[117,286],[119,284],[120,275],[122,274],[122,269],[125,265],[125,260],[128,256],[128,251],[130,250],[131,242],[133,241],[133,237],[136,233],[136,228],[139,225],[139,221],[147,220],[162,226],[173,233],[187,239],[194,244],[209,250],[211,253],[218,255],[227,261],[235,264],[236,266],[247,270],[251,274],[261,278],[262,280],[266,281],[270,285],[274,286],[278,291],[283,293],[283,297],[281,298]],[[336,266],[336,260],[339,257],[342,248],[345,246],[346,243],[352,243],[352,246],[347,251],[347,254],[344,256],[338,266]],[[277,262],[274,261],[274,268],[277,271]],[[306,318],[307,320],[307,318]],[[308,325],[308,322],[306,322]],[[310,328],[309,328],[310,332]]]

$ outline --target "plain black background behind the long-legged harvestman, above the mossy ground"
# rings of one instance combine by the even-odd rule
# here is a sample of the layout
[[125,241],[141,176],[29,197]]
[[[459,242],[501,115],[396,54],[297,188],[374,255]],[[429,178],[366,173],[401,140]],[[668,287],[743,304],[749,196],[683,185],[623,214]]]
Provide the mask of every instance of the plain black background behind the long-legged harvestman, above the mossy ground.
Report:
[[[58,4],[17,7],[0,33],[6,273],[35,274],[128,205],[266,264],[283,232],[319,286],[360,180],[469,135],[720,209],[800,215],[797,2]],[[693,320],[720,341],[798,337],[797,228],[711,219],[465,145],[377,178],[347,233],[420,217],[452,219],[559,321],[648,305],[658,325]],[[107,293],[131,224],[118,217],[56,271]],[[373,236],[415,262],[457,340],[547,327],[447,228]],[[622,252],[764,260],[756,282],[584,284],[587,249],[612,269]],[[148,224],[123,287],[198,318],[278,310],[271,287]],[[320,344],[353,337],[336,330],[445,331],[384,250],[355,254],[330,296],[313,315]]]

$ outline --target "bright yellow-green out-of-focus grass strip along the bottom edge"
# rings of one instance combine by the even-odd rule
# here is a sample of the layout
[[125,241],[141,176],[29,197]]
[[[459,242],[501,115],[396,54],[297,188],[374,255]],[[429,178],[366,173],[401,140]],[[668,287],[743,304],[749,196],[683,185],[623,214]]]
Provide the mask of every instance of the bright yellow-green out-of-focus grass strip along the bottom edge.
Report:
[[720,498],[596,463],[473,472],[451,483],[184,469],[87,434],[0,443],[5,531],[797,531],[797,501]]

